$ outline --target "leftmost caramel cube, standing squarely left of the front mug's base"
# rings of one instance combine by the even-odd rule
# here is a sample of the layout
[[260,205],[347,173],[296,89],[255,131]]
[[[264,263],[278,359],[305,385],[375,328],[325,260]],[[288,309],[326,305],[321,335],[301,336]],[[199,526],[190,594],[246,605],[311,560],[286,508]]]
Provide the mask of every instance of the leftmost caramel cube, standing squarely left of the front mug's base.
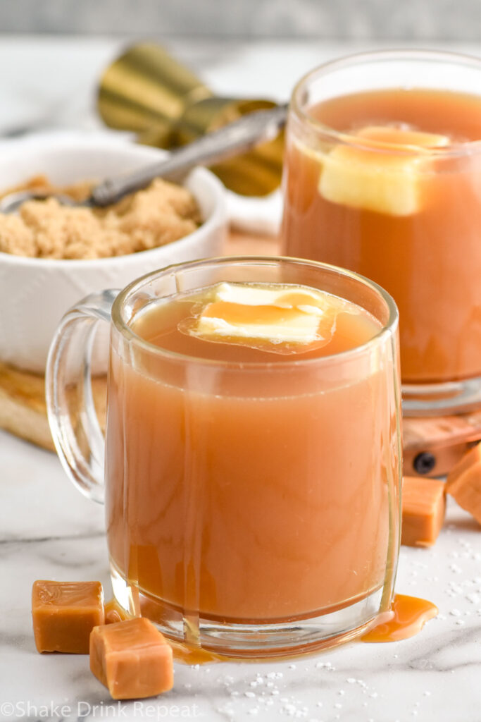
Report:
[[105,622],[102,584],[38,579],[32,617],[39,652],[88,654],[90,632]]

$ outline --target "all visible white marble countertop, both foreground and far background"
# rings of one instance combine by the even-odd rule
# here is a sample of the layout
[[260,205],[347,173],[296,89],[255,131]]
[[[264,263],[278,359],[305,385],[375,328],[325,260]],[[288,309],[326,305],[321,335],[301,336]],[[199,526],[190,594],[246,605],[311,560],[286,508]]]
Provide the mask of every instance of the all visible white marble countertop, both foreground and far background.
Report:
[[[2,39],[0,66],[9,73],[0,80],[0,129],[39,121],[97,128],[93,82],[117,47],[101,39]],[[286,97],[299,74],[353,46],[172,49],[198,63],[219,91]],[[481,46],[466,49],[481,54]],[[100,579],[108,590],[102,526],[102,508],[76,492],[53,454],[0,432],[1,720],[480,721],[481,530],[454,503],[433,549],[402,549],[397,591],[440,610],[417,637],[353,643],[292,663],[176,665],[174,690],[136,705],[112,703],[87,657],[40,656],[33,643],[35,578]]]

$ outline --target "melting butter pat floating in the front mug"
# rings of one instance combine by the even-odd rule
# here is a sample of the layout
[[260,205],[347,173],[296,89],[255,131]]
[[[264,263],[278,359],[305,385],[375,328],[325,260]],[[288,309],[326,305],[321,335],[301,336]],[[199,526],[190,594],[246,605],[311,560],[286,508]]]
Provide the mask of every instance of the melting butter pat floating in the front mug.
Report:
[[321,326],[326,316],[332,320],[328,310],[342,304],[303,287],[221,283],[200,313],[195,335],[214,341],[312,344],[325,338]]

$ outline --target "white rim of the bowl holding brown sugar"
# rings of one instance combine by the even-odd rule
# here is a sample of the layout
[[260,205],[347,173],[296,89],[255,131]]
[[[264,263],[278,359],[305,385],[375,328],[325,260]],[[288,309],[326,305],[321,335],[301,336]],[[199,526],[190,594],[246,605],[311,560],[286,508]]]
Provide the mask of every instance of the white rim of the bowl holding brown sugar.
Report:
[[[131,153],[132,156],[145,157],[146,162],[151,158],[152,161],[158,160],[159,157],[168,155],[167,151],[151,146],[137,145],[128,139],[113,138],[110,134],[102,137],[100,134],[82,134],[77,132],[59,134],[35,134],[26,136],[21,139],[11,139],[1,142],[1,163],[4,160],[12,160],[15,155],[27,152],[30,148],[35,147],[36,150],[51,152],[69,152],[72,149],[89,149],[94,152],[98,150],[124,151]],[[48,173],[48,169],[46,171]],[[208,168],[197,166],[190,171],[189,176],[195,173],[199,175],[202,183],[213,198],[213,210],[209,217],[196,228],[193,232],[173,240],[171,243],[149,248],[146,251],[137,251],[136,253],[124,253],[121,256],[106,256],[105,258],[31,258],[30,256],[17,256],[14,253],[5,253],[0,251],[0,263],[11,264],[12,266],[40,266],[46,268],[48,266],[58,269],[76,268],[76,269],[101,269],[102,266],[113,264],[115,266],[123,266],[132,262],[133,258],[137,258],[148,262],[149,259],[154,261],[156,256],[162,256],[165,248],[182,248],[183,246],[195,243],[199,235],[202,236],[210,230],[214,230],[227,222],[227,201],[226,191],[221,181]],[[167,259],[168,260],[168,259]]]

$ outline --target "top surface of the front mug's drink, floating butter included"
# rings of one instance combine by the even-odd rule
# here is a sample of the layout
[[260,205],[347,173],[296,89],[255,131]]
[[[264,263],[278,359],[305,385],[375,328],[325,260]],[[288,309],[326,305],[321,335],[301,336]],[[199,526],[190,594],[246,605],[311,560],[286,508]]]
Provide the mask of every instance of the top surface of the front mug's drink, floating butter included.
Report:
[[[210,321],[210,323],[207,323]],[[216,284],[157,303],[133,331],[162,349],[208,360],[278,363],[330,356],[381,330],[355,303],[289,284]]]

